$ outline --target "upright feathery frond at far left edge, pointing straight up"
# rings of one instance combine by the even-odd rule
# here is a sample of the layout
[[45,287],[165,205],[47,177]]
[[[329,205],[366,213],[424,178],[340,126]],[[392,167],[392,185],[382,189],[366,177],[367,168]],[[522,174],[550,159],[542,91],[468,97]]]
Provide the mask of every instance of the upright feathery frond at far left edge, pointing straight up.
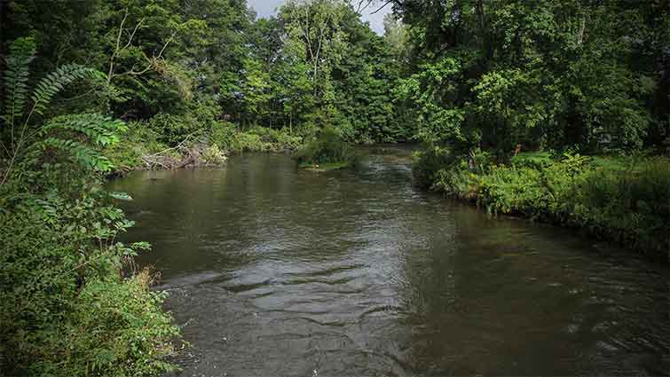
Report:
[[33,38],[18,38],[12,42],[9,54],[4,58],[4,114],[3,119],[13,127],[23,113],[28,98],[28,65],[35,59],[35,41]]

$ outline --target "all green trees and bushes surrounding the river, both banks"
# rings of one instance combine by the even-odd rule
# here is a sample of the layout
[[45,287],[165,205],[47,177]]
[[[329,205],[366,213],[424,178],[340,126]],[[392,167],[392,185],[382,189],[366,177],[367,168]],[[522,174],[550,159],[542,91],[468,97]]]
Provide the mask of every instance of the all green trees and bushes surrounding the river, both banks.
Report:
[[426,188],[668,252],[666,1],[183,3],[0,0],[0,374],[176,368],[149,245],[119,241],[131,198],[104,189],[133,169],[421,143]]

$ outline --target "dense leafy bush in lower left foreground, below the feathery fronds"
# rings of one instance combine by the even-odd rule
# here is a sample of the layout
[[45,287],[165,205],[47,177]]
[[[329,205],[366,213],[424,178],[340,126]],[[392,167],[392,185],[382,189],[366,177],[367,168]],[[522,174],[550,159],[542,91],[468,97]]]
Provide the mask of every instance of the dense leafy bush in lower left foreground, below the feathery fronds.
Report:
[[[7,192],[4,192],[7,193]],[[102,205],[9,194],[0,212],[0,353],[8,375],[153,375],[171,370],[177,336],[143,271],[120,273],[147,245],[111,240],[132,223]]]

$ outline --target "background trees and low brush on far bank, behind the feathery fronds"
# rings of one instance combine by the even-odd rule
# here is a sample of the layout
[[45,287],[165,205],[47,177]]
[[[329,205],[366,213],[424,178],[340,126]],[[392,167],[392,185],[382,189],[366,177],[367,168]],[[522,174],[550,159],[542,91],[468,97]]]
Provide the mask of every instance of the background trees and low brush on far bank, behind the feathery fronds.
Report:
[[[34,36],[38,73],[71,61],[103,73],[102,90],[58,105],[86,102],[128,122],[108,154],[117,166],[164,167],[154,154],[168,148],[178,166],[203,143],[223,153],[296,149],[327,125],[359,143],[413,137],[393,103],[401,65],[347,2],[291,0],[261,20],[244,0],[57,5],[4,5],[4,38]],[[222,139],[231,127],[240,135]]]

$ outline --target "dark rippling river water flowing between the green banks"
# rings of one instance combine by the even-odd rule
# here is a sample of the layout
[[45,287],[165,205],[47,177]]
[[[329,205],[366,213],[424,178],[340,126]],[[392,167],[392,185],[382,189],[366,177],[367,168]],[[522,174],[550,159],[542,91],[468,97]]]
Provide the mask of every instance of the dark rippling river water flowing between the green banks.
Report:
[[185,376],[667,375],[668,269],[412,184],[409,151],[138,172]]

